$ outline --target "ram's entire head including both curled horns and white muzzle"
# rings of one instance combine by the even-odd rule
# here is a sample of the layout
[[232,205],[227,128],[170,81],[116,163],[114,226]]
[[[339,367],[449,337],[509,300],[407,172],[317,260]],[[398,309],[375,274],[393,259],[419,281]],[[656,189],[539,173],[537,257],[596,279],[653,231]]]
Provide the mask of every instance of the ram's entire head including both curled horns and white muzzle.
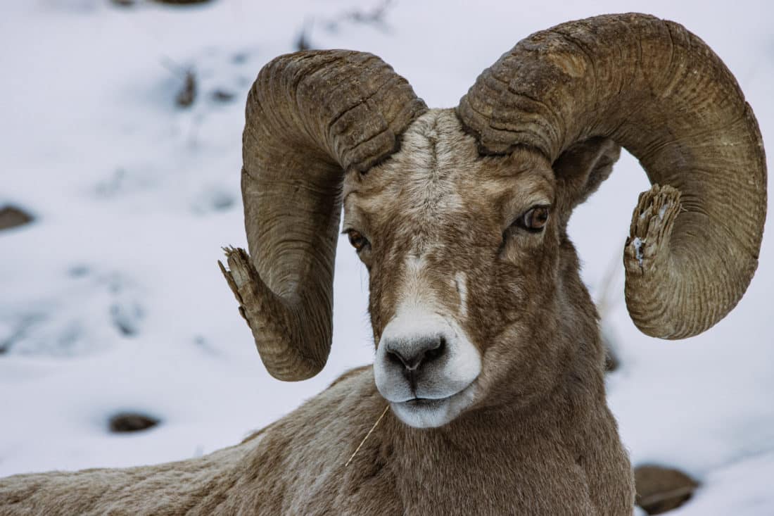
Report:
[[624,249],[629,313],[648,335],[697,335],[757,266],[765,159],[731,73],[682,26],[606,15],[536,33],[456,109],[428,110],[370,54],[273,60],[247,105],[250,254],[226,272],[265,366],[301,380],[327,360],[343,203],[376,385],[402,421],[545,394],[598,346],[565,229],[619,145],[653,184]]

